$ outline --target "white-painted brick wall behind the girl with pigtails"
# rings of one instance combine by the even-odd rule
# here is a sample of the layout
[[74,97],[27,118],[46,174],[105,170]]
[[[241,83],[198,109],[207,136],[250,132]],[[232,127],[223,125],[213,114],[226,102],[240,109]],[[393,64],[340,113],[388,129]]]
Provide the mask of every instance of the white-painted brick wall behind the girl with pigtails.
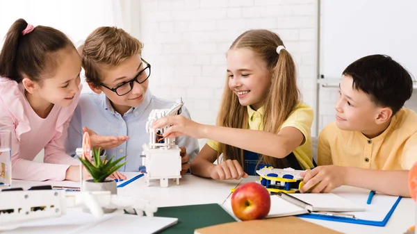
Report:
[[281,36],[297,63],[304,101],[316,108],[317,8],[315,0],[142,0],[141,30],[132,34],[145,43],[153,94],[183,97],[194,120],[215,124],[225,53],[252,28]]

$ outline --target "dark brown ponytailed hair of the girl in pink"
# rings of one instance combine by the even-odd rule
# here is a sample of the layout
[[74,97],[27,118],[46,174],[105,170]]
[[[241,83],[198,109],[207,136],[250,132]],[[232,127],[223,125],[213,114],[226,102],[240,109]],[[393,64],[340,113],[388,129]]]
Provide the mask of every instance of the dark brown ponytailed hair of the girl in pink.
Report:
[[74,47],[64,33],[47,26],[36,26],[23,35],[22,31],[27,26],[24,19],[17,19],[8,30],[0,53],[0,76],[17,83],[22,81],[23,76],[40,81],[42,74],[55,72],[56,51]]

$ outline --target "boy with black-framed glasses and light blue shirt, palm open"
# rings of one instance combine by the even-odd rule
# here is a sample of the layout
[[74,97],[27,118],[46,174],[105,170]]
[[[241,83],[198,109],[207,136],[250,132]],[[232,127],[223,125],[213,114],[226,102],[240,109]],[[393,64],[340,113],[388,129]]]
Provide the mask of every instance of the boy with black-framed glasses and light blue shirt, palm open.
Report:
[[[121,28],[99,27],[79,48],[85,80],[94,93],[81,94],[68,128],[67,153],[81,145],[83,132],[90,133],[92,147],[106,149],[115,159],[127,155],[122,172],[137,172],[142,160],[142,145],[149,142],[145,124],[153,109],[169,109],[165,101],[148,90],[151,65],[141,56],[143,44]],[[181,115],[190,118],[183,107]],[[119,136],[119,137],[115,137]],[[189,169],[199,146],[196,139],[177,137],[183,167]]]

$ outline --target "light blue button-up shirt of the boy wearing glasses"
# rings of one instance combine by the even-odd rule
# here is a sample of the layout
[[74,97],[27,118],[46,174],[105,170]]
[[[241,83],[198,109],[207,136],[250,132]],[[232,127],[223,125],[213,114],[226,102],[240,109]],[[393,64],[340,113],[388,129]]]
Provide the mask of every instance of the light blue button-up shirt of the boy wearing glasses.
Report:
[[[106,94],[92,92],[81,94],[78,106],[72,116],[68,127],[68,136],[65,149],[69,155],[74,156],[76,148],[81,147],[83,140],[83,126],[90,128],[99,135],[119,136],[127,135],[129,140],[118,147],[106,149],[108,157],[115,159],[127,155],[126,164],[119,169],[121,172],[138,172],[142,166],[140,155],[142,145],[149,142],[145,124],[153,109],[170,109],[174,101],[166,101],[152,95],[148,89],[143,102],[136,108],[131,108],[124,116],[115,112]],[[190,118],[188,110],[183,106],[181,115]],[[181,136],[176,138],[179,147],[186,147],[191,159],[197,156],[199,144],[197,139]]]

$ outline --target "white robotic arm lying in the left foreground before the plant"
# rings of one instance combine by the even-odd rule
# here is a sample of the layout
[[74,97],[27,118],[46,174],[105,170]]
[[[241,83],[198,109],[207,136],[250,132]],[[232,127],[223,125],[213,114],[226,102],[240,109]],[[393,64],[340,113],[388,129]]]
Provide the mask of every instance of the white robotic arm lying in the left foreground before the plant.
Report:
[[60,217],[67,213],[67,208],[87,207],[96,218],[104,215],[102,208],[134,209],[140,216],[145,211],[149,217],[153,217],[157,210],[149,204],[149,201],[133,197],[119,197],[111,194],[110,191],[2,190],[0,201],[0,232],[18,228],[26,222],[33,222],[37,219]]

